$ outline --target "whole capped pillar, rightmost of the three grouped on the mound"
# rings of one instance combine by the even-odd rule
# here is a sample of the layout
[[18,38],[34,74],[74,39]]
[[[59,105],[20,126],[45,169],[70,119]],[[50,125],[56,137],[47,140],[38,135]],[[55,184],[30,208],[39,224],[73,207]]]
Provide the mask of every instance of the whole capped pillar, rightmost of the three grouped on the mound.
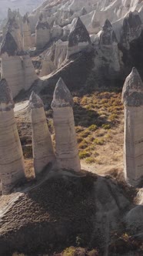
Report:
[[59,168],[79,172],[81,166],[72,105],[71,93],[60,78],[52,101],[56,160]]

